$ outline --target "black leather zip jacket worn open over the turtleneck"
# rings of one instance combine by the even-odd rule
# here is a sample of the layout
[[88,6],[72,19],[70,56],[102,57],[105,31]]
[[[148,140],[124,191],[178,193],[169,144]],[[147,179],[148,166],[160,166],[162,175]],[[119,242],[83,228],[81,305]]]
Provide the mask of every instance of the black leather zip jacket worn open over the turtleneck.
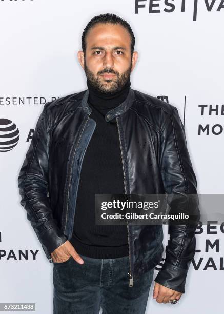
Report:
[[[21,205],[50,262],[51,252],[72,236],[79,175],[96,122],[88,89],[45,104],[18,176]],[[127,99],[108,111],[116,117],[126,193],[197,194],[185,130],[176,107],[130,88]],[[199,213],[198,208],[195,212]],[[170,225],[166,259],[155,281],[185,292],[195,253],[196,225]],[[162,259],[162,225],[127,224],[127,280]]]

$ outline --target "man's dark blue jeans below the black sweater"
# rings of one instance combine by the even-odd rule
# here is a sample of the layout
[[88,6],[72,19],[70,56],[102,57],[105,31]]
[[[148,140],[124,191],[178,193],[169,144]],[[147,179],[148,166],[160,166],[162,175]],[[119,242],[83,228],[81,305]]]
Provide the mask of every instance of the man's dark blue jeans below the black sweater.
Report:
[[154,268],[129,287],[129,257],[93,259],[79,254],[53,264],[54,314],[144,314]]

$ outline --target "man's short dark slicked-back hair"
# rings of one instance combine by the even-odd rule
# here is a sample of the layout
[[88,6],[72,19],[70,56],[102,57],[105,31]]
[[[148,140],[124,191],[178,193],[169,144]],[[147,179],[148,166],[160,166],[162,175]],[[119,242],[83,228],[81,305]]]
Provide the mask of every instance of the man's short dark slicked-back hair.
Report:
[[100,14],[100,15],[94,16],[91,19],[91,21],[87,24],[87,26],[85,27],[85,29],[83,31],[83,35],[82,35],[82,48],[83,48],[84,55],[86,52],[87,33],[96,24],[100,24],[100,23],[102,23],[102,24],[113,24],[113,25],[114,24],[120,24],[121,26],[126,28],[127,31],[129,32],[130,36],[131,36],[131,55],[133,54],[134,46],[135,46],[135,36],[134,36],[134,33],[133,33],[129,23],[127,21],[125,21],[125,19],[119,17],[118,15],[115,15],[112,13],[105,13],[105,14]]

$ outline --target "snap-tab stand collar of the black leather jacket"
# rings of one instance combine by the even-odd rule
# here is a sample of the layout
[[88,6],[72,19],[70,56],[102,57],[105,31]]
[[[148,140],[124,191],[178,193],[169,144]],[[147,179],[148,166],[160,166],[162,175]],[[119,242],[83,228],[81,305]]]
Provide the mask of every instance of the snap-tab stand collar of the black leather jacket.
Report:
[[[126,112],[133,104],[134,102],[134,90],[130,87],[129,93],[127,98],[123,103],[121,103],[119,106],[109,110],[107,114],[105,115],[105,120],[108,122],[112,120],[115,116],[120,115],[121,113]],[[85,112],[88,114],[91,113],[92,109],[88,104],[88,97],[89,97],[89,90],[87,89],[84,93],[83,99],[82,99],[82,107]]]

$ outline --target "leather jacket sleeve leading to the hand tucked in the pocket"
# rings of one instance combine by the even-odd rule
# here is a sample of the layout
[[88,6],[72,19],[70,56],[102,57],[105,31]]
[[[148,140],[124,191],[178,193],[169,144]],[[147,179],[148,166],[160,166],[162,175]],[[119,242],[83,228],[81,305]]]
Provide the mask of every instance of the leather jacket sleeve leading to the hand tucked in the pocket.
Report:
[[49,259],[51,252],[67,241],[52,216],[48,193],[48,160],[51,145],[50,119],[45,104],[18,176],[20,204]]

